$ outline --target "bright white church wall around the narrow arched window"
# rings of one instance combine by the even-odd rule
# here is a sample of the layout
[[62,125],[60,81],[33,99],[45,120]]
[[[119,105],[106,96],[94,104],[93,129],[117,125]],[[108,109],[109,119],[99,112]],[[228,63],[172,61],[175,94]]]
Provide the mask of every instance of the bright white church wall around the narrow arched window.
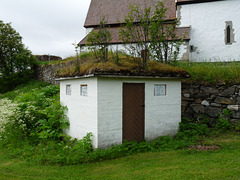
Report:
[[[240,1],[225,0],[181,6],[181,25],[191,26],[190,61],[240,61]],[[226,21],[233,22],[235,41],[225,45]]]

